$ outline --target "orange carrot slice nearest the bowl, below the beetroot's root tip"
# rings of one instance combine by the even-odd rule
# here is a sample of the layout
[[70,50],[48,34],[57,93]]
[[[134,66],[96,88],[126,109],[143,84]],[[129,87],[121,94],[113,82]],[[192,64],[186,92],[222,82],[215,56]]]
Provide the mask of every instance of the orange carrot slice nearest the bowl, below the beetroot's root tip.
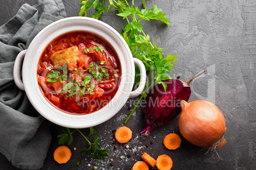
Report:
[[125,126],[118,128],[115,133],[115,139],[119,143],[127,143],[129,140],[131,140],[131,138],[132,138],[132,131],[131,129]]

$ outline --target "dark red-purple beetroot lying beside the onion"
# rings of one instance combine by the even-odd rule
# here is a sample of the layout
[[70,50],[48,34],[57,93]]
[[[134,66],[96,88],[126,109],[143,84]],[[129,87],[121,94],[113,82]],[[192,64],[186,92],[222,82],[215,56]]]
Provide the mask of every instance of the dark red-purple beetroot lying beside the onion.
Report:
[[190,82],[203,73],[204,70],[187,81],[177,79],[163,81],[167,84],[166,91],[162,84],[153,86],[146,97],[146,105],[143,108],[147,127],[141,134],[148,134],[151,129],[167,124],[180,114],[181,100],[188,101],[191,95]]

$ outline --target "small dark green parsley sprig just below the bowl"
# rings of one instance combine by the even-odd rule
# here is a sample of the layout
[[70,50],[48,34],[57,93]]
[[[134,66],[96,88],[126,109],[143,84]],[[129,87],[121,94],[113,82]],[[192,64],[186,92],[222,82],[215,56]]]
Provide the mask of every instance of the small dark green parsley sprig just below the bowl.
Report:
[[[79,130],[79,129],[75,129],[74,131],[70,131],[69,128],[62,128],[62,131],[64,133],[60,133],[57,138],[59,138],[59,145],[65,145],[65,143],[67,143],[68,145],[70,145],[73,141],[73,136],[72,134],[75,133],[75,131],[78,131],[83,138],[85,138],[85,140],[89,143],[89,148],[85,148],[84,150],[82,150],[80,153],[81,154],[85,154],[85,153],[90,153],[92,154],[92,159],[106,159],[106,157],[110,154],[110,152],[106,149],[99,149],[99,135],[97,134],[94,142],[90,142],[86,136]],[[96,134],[96,130],[94,128],[90,128],[90,133],[89,135],[92,134]]]

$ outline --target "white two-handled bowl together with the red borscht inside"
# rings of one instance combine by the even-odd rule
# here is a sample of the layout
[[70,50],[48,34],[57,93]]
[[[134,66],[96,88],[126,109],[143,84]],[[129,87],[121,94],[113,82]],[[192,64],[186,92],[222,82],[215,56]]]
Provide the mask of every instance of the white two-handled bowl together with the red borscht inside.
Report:
[[[133,90],[135,65],[140,81]],[[108,121],[142,93],[146,70],[110,25],[75,16],[41,30],[18,54],[13,77],[45,119],[66,128],[89,128]]]

